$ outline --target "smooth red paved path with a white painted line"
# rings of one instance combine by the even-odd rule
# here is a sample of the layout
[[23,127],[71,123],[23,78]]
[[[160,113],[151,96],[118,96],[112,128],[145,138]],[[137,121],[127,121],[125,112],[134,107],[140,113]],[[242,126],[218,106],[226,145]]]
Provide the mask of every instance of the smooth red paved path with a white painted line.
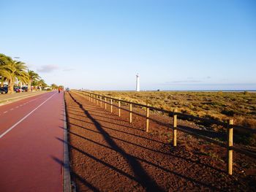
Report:
[[63,191],[64,96],[0,107],[0,191]]

